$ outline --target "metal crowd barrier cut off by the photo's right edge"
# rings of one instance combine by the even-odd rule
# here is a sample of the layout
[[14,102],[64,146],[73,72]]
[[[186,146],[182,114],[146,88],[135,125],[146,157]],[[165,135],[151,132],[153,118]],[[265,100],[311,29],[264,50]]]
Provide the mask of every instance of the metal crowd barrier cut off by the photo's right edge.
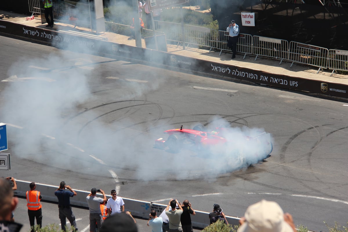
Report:
[[332,70],[331,75],[337,70],[348,71],[348,51],[330,49],[327,68]]

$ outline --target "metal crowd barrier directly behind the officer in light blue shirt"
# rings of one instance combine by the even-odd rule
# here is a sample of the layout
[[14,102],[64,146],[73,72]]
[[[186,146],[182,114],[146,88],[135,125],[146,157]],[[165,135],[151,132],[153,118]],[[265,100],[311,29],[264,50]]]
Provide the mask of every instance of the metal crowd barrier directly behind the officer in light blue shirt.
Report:
[[[227,46],[228,41],[228,32],[219,31],[219,40],[216,42],[216,49],[220,49],[220,54],[222,51],[230,51]],[[237,53],[243,53],[245,58],[246,54],[252,54],[252,36],[250,34],[239,33],[238,42],[237,42]]]

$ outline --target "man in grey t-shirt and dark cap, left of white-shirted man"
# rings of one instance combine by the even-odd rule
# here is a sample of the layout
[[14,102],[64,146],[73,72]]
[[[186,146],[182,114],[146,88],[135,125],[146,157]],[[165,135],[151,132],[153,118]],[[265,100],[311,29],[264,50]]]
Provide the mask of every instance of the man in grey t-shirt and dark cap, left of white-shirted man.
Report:
[[103,223],[102,211],[100,210],[100,203],[106,201],[106,196],[103,190],[98,190],[103,194],[104,198],[96,197],[97,189],[93,188],[90,190],[90,193],[86,197],[88,208],[89,208],[89,231],[95,232],[95,225],[97,224],[98,228],[101,227]]

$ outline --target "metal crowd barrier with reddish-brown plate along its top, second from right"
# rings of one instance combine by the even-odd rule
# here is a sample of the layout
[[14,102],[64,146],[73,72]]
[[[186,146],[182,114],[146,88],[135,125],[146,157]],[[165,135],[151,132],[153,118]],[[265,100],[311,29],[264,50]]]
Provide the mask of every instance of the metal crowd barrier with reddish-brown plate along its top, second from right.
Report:
[[320,69],[326,69],[328,53],[329,50],[327,48],[295,41],[291,41],[289,46],[289,60],[292,61],[291,66],[294,62],[316,66],[319,67],[317,73]]

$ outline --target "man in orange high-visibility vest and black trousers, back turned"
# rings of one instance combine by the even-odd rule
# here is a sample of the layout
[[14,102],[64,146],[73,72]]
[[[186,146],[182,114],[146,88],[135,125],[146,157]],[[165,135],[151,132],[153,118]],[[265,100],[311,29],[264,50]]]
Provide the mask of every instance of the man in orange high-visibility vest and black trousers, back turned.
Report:
[[29,222],[31,232],[34,232],[35,218],[36,224],[41,228],[42,226],[42,211],[41,211],[41,194],[39,191],[35,191],[36,184],[31,182],[29,184],[30,191],[26,191],[26,206],[28,207]]

